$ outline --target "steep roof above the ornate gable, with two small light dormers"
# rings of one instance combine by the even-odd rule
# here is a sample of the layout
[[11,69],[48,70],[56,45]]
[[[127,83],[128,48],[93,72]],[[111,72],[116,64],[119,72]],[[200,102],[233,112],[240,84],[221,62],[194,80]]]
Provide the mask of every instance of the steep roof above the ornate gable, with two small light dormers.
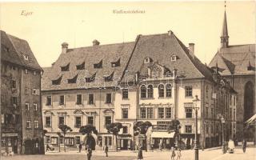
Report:
[[[171,62],[171,56],[178,56],[177,61]],[[165,66],[169,70],[178,70],[178,75],[185,78],[208,78],[212,80],[211,72],[207,66],[194,56],[174,34],[142,35],[135,46],[126,76],[132,77],[139,72],[144,64],[145,58],[152,58],[154,62]],[[145,71],[145,70],[144,70]]]

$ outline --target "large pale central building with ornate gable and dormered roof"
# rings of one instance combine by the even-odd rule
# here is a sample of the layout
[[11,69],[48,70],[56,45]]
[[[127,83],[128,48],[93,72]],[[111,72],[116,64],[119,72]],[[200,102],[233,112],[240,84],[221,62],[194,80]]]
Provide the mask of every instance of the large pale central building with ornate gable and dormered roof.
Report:
[[[198,95],[198,134],[202,146],[222,142],[220,116],[226,115],[226,133],[235,134],[236,93],[214,70],[194,55],[194,44],[187,48],[172,31],[166,34],[138,35],[135,42],[69,49],[62,44],[62,54],[42,77],[42,110],[46,143],[58,147],[58,126],[66,124],[73,131],[66,144],[74,148],[82,141],[80,126],[93,125],[96,149],[116,145],[105,125],[121,122],[118,134],[120,150],[136,149],[142,144],[149,150],[193,145],[195,114],[193,100]],[[218,115],[218,116],[217,116]],[[171,120],[181,122],[180,134],[169,130]],[[153,124],[146,138],[134,136],[134,122]],[[97,138],[96,138],[97,137]],[[147,144],[147,145],[146,145]]]

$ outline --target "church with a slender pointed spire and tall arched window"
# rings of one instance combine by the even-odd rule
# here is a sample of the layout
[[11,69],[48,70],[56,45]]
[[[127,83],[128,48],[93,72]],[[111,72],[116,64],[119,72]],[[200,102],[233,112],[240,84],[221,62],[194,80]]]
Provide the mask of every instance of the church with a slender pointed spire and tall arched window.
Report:
[[221,47],[210,62],[218,66],[219,74],[238,92],[237,138],[255,140],[255,128],[245,129],[246,122],[256,113],[255,106],[255,44],[229,45],[226,11],[222,26]]

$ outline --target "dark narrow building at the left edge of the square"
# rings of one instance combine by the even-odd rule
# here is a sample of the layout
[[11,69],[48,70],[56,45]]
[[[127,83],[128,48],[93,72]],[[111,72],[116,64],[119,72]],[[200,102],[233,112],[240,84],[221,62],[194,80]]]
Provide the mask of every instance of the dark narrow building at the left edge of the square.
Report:
[[2,153],[44,153],[41,71],[29,44],[1,30]]

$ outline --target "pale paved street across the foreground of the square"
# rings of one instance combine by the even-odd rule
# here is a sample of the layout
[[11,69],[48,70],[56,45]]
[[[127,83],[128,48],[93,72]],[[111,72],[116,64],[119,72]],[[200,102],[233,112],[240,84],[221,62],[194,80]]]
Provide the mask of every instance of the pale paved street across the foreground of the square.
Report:
[[[256,148],[249,147],[246,150],[246,153],[242,153],[241,147],[237,148],[234,154],[222,154],[221,149],[217,150],[199,150],[199,159],[200,160],[252,160],[255,158]],[[110,157],[106,158],[102,151],[95,151],[93,153],[92,160],[134,160],[137,158],[136,152],[132,151],[122,151],[122,152],[110,152]],[[154,151],[154,152],[143,152],[144,159],[146,160],[170,160],[169,151]],[[86,160],[86,152],[77,153],[75,151],[62,152],[62,153],[47,153],[46,155],[14,155],[13,157],[3,157],[2,160]],[[194,150],[183,150],[182,151],[182,160],[194,160]]]

